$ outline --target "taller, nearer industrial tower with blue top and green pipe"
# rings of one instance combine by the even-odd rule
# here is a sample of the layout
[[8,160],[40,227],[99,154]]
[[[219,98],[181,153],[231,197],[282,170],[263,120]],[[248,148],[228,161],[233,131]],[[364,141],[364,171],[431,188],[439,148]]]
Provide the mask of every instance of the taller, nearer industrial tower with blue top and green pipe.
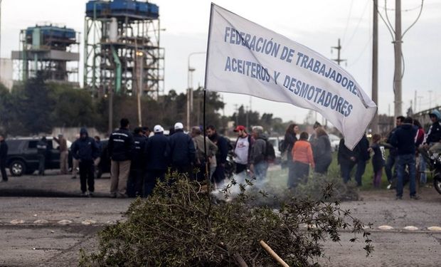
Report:
[[159,46],[159,7],[146,1],[91,0],[86,4],[84,88],[151,95],[164,90],[164,48]]

